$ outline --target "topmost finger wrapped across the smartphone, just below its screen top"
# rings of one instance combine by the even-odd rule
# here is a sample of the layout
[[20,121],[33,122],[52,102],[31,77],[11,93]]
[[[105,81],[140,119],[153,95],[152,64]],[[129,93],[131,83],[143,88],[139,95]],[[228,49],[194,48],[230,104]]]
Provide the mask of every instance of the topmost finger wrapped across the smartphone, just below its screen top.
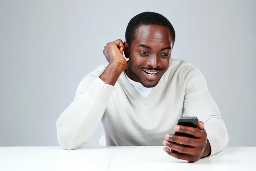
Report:
[[193,135],[194,137],[197,137],[197,138],[201,138],[205,136],[205,134],[202,134],[204,130],[200,130],[199,128],[193,128],[189,126],[176,125],[174,127],[174,130],[180,133]]

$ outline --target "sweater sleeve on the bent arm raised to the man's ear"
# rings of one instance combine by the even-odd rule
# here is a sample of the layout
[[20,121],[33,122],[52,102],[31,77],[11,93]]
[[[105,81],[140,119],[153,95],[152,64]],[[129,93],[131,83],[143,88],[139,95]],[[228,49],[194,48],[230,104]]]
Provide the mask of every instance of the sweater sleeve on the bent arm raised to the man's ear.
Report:
[[81,80],[73,102],[56,122],[58,142],[67,150],[84,145],[102,119],[114,88],[99,78],[105,67],[99,66]]

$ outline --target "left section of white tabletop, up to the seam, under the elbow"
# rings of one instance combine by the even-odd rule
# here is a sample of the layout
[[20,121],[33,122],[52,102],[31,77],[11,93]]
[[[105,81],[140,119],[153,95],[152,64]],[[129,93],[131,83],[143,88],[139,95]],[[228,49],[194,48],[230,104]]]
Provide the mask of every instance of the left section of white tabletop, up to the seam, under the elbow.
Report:
[[0,147],[0,171],[106,171],[114,147]]

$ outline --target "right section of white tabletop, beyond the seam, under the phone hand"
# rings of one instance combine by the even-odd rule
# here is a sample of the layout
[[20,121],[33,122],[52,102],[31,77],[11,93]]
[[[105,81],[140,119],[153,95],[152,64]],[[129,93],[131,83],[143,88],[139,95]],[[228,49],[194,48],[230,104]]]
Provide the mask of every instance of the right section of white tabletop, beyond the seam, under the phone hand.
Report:
[[256,171],[256,147],[227,147],[194,163],[169,156],[163,147],[116,147],[108,171],[121,170]]

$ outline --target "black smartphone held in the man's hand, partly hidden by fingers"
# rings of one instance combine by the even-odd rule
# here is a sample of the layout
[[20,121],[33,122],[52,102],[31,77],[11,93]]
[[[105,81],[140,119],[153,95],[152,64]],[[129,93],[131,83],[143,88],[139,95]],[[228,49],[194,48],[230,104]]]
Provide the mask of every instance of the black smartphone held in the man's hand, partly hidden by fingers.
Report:
[[[190,127],[196,128],[198,125],[198,118],[197,117],[178,117],[177,125],[190,126]],[[193,135],[180,133],[180,132],[175,132],[175,135],[195,138]],[[183,145],[180,143],[177,143],[177,144]],[[171,149],[171,152],[178,152],[178,151]]]

